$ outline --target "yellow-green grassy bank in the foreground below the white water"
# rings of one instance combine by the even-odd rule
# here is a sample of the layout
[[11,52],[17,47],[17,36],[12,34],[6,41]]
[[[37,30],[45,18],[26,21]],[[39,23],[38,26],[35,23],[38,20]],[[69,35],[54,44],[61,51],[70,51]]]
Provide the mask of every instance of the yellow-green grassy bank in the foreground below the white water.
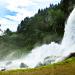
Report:
[[0,75],[75,75],[75,58],[35,69],[2,71]]

